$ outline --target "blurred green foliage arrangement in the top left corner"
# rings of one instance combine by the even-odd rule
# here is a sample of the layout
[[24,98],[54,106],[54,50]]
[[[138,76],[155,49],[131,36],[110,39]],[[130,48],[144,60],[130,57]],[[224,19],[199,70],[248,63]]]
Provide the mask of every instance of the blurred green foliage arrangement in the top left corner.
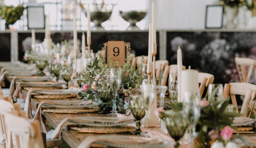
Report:
[[8,29],[10,24],[13,25],[20,19],[20,16],[23,15],[23,10],[23,5],[18,5],[17,7],[13,5],[3,6],[0,8],[0,16],[6,20],[5,29]]

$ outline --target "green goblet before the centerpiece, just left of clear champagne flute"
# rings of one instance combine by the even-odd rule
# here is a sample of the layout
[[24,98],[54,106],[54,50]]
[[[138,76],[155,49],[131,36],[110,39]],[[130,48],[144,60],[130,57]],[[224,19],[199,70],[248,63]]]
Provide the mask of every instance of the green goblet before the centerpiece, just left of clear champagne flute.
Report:
[[112,91],[111,91],[111,83],[110,82],[98,82],[97,92],[101,101],[103,101],[103,110],[98,112],[100,114],[108,114],[110,111],[107,111],[106,103],[111,99]]

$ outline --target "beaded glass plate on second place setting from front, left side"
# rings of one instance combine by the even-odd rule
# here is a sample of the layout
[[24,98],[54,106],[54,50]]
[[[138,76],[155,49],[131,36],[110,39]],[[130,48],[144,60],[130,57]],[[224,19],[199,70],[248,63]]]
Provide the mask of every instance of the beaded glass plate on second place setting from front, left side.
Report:
[[71,123],[77,123],[79,125],[86,125],[90,127],[116,127],[116,126],[123,126],[128,124],[136,123],[136,121],[127,121],[122,123],[114,123],[114,121],[119,120],[119,118],[115,117],[79,117],[78,119],[84,119],[84,120],[92,120],[92,122],[78,122],[69,120]]

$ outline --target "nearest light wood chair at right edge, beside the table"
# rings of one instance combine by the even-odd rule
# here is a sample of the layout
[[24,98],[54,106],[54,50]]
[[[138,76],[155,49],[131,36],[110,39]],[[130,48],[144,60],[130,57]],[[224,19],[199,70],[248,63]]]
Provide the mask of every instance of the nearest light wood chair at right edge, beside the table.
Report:
[[[223,98],[228,98],[230,95],[232,104],[236,105],[237,107],[237,101],[235,95],[244,95],[245,99],[242,104],[241,114],[240,117],[246,117],[249,103],[251,100],[254,101],[253,106],[255,105],[255,95],[256,95],[256,85],[249,84],[249,83],[230,83],[225,84],[224,92],[223,92]],[[236,112],[238,113],[238,107],[236,108]],[[250,117],[252,114],[252,110],[248,117]]]

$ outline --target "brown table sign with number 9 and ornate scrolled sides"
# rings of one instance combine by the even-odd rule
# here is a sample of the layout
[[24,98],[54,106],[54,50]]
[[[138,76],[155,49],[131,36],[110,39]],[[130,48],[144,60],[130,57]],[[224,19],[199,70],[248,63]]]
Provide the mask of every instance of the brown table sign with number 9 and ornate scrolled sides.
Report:
[[108,41],[104,43],[104,47],[102,48],[102,59],[108,65],[111,61],[114,64],[118,61],[119,65],[124,65],[128,52],[131,49],[130,45],[130,43],[125,43],[124,41]]

